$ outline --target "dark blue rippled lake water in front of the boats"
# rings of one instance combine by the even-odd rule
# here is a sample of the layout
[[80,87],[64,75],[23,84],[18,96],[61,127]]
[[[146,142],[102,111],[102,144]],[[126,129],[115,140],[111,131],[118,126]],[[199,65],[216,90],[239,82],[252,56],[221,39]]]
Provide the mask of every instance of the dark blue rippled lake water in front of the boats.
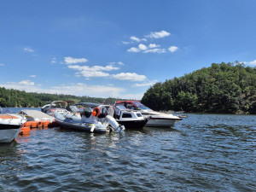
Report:
[[188,115],[172,129],[34,129],[0,144],[0,191],[255,191],[256,116]]

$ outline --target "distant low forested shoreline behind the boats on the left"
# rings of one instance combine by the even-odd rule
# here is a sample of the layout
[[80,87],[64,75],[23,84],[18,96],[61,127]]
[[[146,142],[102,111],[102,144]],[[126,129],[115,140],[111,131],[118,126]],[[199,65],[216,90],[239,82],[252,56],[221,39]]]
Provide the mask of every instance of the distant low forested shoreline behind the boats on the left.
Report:
[[[113,104],[117,98],[96,98],[90,96],[71,96],[46,93],[27,93],[24,90],[8,90],[0,87],[0,107],[43,107],[53,101],[96,102]],[[121,100],[121,99],[119,99]]]

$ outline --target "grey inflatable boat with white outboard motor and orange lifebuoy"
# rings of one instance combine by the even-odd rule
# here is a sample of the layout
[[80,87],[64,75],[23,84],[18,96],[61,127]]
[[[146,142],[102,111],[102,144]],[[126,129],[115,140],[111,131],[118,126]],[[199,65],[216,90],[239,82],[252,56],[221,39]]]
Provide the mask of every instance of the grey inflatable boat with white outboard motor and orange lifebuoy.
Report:
[[[110,107],[110,106],[109,106]],[[104,133],[124,131],[125,127],[108,114],[108,106],[89,102],[80,102],[65,113],[55,112],[57,125],[70,130]],[[77,114],[80,114],[80,117]]]

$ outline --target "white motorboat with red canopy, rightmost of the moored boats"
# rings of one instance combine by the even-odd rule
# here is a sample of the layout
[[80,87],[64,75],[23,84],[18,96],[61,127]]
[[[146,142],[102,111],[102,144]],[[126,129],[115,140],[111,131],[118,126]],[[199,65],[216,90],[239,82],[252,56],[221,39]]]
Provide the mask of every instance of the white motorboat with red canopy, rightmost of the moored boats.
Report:
[[148,118],[147,126],[171,127],[182,120],[182,118],[173,114],[153,111],[147,106],[144,106],[143,103],[137,101],[118,101],[115,102],[115,106],[124,106],[125,108],[137,110],[142,113],[143,117]]

